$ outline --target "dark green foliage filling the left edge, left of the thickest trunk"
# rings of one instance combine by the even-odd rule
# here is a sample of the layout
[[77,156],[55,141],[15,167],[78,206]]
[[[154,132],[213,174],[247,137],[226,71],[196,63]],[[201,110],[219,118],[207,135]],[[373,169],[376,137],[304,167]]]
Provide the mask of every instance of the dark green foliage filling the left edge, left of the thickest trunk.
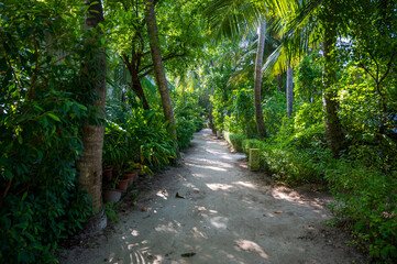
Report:
[[0,2],[1,262],[55,262],[59,240],[92,213],[75,165],[81,123],[100,122],[78,75],[95,53],[82,43],[90,32],[75,29],[81,4]]

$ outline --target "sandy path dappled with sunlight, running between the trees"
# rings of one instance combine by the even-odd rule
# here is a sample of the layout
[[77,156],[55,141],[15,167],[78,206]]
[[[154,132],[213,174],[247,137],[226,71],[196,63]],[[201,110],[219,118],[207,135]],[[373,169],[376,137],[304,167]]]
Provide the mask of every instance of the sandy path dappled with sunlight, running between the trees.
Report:
[[181,167],[144,184],[151,188],[136,206],[123,202],[118,224],[65,251],[60,263],[364,262],[324,226],[327,195],[272,186],[208,130],[195,135]]

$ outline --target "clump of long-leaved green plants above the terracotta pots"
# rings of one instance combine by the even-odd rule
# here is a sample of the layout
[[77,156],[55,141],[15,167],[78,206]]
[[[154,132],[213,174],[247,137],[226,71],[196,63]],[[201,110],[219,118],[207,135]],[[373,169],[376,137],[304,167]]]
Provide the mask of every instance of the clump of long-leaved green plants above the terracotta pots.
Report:
[[111,155],[118,156],[113,165],[124,168],[129,163],[141,163],[154,169],[176,158],[173,128],[164,123],[161,113],[128,101],[108,106],[107,116],[104,157],[110,146]]

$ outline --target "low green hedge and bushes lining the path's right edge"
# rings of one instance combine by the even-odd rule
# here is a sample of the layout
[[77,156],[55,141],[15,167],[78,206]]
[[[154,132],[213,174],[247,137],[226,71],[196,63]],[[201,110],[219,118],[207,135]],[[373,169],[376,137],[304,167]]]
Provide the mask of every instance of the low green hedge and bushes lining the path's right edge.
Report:
[[[276,180],[289,185],[327,185],[335,197],[335,201],[330,205],[334,213],[331,223],[352,231],[350,243],[367,251],[370,256],[382,262],[390,263],[397,257],[395,168],[387,166],[388,170],[382,172],[375,168],[376,161],[363,164],[363,154],[360,158],[352,158],[353,153],[363,153],[353,146],[350,150],[350,158],[334,158],[328,148],[322,147],[323,139],[317,129],[308,130],[301,136],[283,143],[244,139],[241,134],[229,132],[223,132],[223,135],[233,148],[242,150],[247,155],[250,148],[260,148],[262,169],[269,172]],[[310,146],[309,143],[316,141],[318,144]],[[366,155],[374,158],[375,153]],[[373,166],[367,167],[371,164]]]

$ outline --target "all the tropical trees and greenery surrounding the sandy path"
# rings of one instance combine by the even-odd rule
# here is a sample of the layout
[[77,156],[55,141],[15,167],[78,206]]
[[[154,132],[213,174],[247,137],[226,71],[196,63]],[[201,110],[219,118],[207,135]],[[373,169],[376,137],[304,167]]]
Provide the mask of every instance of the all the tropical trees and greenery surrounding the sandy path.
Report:
[[206,125],[235,151],[258,148],[279,184],[330,190],[329,223],[396,261],[396,10],[0,0],[0,262],[56,262],[64,239],[114,217],[102,169],[177,165]]

